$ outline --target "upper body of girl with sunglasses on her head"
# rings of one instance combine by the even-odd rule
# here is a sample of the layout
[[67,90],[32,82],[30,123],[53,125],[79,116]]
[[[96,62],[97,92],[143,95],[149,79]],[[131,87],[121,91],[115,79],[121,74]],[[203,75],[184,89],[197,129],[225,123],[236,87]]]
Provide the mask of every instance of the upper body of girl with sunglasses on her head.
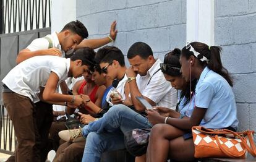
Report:
[[162,107],[155,108],[161,113],[166,111],[170,117],[176,118],[191,116],[195,103],[195,85],[197,84],[196,79],[192,80],[192,82],[186,82],[182,77],[181,64],[179,62],[180,55],[181,50],[176,48],[167,53],[164,56],[164,62],[160,64],[165,79],[171,83],[172,87],[179,90],[179,102],[176,105],[176,110]]

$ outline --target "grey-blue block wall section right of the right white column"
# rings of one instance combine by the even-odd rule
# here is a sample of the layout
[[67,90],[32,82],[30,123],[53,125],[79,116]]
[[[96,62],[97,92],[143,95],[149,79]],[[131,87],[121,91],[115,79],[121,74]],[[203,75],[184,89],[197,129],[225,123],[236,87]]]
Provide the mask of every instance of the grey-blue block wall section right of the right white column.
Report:
[[215,44],[234,78],[239,129],[256,130],[255,0],[215,0]]

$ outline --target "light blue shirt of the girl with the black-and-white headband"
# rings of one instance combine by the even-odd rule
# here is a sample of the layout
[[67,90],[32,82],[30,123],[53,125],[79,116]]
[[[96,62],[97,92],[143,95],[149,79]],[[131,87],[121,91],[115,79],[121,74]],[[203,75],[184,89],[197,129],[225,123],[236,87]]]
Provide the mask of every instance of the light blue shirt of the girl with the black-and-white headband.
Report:
[[220,75],[203,69],[195,87],[195,106],[207,109],[200,126],[211,129],[233,127],[237,129],[237,108],[229,83]]

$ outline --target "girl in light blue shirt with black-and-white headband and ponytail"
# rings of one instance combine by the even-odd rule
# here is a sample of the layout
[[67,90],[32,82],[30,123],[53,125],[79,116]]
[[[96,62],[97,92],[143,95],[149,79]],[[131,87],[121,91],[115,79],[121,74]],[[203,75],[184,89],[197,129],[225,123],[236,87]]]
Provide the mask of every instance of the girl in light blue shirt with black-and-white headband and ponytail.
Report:
[[[154,125],[148,145],[148,161],[166,161],[168,157],[176,161],[193,161],[193,126],[236,131],[238,120],[231,89],[233,82],[222,66],[220,51],[218,46],[209,47],[200,42],[192,42],[182,48],[182,77],[186,82],[198,80],[194,110],[190,117],[181,116],[182,119],[163,117],[161,111],[147,112],[149,121]],[[189,104],[193,102],[190,100]]]

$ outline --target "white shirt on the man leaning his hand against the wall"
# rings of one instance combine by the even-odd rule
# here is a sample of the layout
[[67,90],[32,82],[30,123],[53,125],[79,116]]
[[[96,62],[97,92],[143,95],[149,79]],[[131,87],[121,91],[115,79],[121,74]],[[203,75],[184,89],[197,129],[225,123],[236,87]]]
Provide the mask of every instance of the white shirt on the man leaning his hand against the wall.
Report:
[[[61,45],[59,44],[59,38],[57,36],[57,33],[53,32],[50,35],[46,36],[53,42],[53,48],[58,48],[62,53],[62,57],[64,57],[65,52],[62,50]],[[27,46],[27,49],[29,49],[30,51],[37,51],[40,49],[48,49],[48,47],[49,41],[41,37],[33,40],[32,43],[30,43],[30,45]]]

